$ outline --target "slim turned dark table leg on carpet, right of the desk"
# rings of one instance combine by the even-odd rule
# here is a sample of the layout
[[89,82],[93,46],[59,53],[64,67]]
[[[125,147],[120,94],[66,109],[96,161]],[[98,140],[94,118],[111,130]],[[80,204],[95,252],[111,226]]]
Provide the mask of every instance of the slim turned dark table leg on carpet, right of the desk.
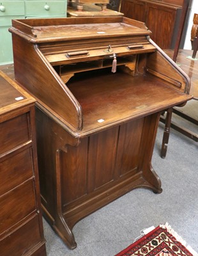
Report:
[[172,108],[167,110],[167,115],[165,117],[165,128],[164,128],[164,135],[162,139],[162,148],[161,148],[161,157],[165,158],[167,153],[167,146],[169,143],[169,134],[171,128],[171,117],[172,117]]

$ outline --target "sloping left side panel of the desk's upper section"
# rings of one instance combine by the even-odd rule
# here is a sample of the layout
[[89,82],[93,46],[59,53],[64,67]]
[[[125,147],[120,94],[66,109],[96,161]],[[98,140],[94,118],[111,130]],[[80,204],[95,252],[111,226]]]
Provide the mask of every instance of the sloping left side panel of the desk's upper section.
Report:
[[39,102],[66,120],[70,128],[82,129],[79,102],[40,52],[38,45],[13,35],[13,56],[15,79]]

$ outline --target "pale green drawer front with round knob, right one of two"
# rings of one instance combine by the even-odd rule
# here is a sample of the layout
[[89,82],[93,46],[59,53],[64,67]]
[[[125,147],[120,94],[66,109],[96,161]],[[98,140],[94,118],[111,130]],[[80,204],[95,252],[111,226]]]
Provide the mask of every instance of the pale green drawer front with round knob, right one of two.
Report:
[[65,1],[26,1],[26,17],[64,15],[66,13]]

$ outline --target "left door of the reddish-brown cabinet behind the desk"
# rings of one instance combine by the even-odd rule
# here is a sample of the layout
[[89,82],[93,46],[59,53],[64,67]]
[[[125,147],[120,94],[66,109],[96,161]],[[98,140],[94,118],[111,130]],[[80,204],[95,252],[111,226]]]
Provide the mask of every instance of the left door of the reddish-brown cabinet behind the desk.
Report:
[[130,19],[145,22],[146,4],[144,1],[122,1],[121,12]]

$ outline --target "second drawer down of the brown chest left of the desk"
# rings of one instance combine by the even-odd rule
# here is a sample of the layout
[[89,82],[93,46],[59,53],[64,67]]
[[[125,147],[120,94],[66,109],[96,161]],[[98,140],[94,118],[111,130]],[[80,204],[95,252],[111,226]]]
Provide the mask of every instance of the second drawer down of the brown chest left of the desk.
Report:
[[31,148],[0,158],[0,196],[33,176]]

